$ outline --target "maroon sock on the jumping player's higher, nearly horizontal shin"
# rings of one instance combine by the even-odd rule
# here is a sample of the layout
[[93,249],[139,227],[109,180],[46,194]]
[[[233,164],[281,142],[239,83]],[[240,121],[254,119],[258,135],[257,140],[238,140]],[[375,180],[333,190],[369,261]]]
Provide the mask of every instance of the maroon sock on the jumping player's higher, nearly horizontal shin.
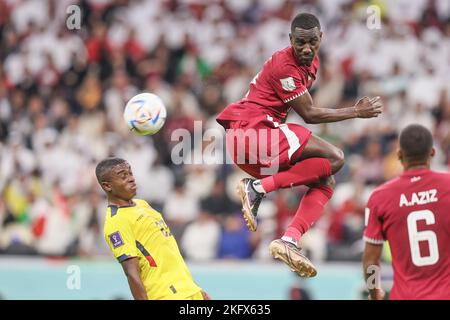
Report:
[[286,171],[261,179],[261,185],[266,192],[281,188],[290,188],[316,182],[321,178],[331,176],[330,161],[326,158],[309,158],[296,163]]

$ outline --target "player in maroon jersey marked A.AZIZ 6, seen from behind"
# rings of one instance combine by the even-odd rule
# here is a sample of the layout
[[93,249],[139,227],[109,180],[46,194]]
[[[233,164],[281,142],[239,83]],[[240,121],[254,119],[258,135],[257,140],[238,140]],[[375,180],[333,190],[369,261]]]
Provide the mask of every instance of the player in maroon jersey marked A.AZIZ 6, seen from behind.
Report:
[[384,297],[373,280],[385,240],[394,270],[390,299],[450,299],[450,174],[430,170],[434,154],[428,129],[406,127],[398,152],[403,174],[370,196],[363,255],[370,299]]

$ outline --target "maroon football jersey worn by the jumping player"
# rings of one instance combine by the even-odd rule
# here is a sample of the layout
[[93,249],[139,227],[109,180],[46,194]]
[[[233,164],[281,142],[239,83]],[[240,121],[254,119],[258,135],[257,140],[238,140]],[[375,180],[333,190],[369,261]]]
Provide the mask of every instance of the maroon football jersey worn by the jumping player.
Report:
[[228,129],[228,122],[241,120],[258,122],[261,119],[284,122],[289,112],[286,103],[306,93],[316,79],[319,58],[311,66],[301,65],[292,47],[275,52],[253,78],[245,97],[227,106],[217,121]]

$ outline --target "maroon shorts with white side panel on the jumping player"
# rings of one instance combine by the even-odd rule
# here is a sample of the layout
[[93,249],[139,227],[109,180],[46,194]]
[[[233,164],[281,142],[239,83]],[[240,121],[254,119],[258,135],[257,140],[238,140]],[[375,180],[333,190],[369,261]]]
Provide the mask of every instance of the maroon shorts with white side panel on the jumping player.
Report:
[[255,178],[289,169],[300,158],[311,131],[271,120],[234,121],[226,133],[227,150],[234,163]]

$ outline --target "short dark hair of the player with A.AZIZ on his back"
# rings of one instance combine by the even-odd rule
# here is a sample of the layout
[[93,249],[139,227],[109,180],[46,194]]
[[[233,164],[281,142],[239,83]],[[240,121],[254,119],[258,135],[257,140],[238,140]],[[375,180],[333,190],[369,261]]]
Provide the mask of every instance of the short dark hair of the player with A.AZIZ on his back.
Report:
[[400,133],[400,149],[408,160],[426,160],[432,148],[433,136],[420,124],[411,124]]

